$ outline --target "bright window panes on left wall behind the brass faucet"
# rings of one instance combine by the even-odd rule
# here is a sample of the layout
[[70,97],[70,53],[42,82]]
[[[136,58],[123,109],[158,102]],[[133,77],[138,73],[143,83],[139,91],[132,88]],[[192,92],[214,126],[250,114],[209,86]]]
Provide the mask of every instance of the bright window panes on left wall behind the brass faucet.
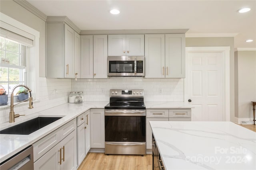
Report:
[[18,84],[26,84],[26,46],[0,37],[0,84],[10,94]]

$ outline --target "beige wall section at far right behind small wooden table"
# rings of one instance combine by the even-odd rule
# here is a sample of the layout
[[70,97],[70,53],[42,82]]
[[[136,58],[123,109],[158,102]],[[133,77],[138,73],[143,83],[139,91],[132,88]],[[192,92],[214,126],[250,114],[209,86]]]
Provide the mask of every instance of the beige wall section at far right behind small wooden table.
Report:
[[238,118],[253,118],[252,101],[256,101],[256,51],[238,51]]

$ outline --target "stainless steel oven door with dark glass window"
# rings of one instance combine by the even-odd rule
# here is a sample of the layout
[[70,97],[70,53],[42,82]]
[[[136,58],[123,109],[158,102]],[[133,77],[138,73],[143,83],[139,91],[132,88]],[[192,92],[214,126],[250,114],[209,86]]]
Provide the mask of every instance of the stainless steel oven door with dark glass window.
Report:
[[145,110],[105,110],[106,142],[146,142]]

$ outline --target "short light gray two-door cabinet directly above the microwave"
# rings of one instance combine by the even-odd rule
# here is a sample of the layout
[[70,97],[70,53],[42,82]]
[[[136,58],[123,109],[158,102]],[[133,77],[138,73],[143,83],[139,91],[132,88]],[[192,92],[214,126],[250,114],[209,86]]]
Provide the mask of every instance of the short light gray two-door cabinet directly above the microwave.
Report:
[[108,35],[109,56],[144,56],[144,35]]

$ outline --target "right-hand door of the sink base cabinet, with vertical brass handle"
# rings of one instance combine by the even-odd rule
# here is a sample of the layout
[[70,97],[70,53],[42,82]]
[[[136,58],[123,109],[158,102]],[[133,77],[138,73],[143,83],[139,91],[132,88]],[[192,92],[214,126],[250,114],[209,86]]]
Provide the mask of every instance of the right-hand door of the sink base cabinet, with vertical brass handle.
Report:
[[60,142],[60,148],[62,149],[62,164],[60,165],[61,170],[76,170],[76,130],[70,135],[64,138]]

